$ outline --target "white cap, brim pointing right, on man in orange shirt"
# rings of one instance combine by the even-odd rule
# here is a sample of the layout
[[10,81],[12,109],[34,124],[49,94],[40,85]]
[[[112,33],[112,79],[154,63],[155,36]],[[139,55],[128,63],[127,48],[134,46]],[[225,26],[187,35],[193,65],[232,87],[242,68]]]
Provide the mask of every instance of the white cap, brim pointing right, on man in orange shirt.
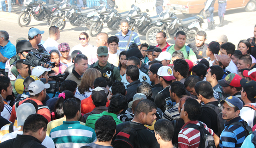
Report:
[[28,86],[28,92],[30,95],[35,96],[36,94],[42,92],[42,90],[44,90],[45,88],[46,89],[50,88],[50,84],[48,83],[44,84],[40,80],[35,80],[32,83],[30,83],[30,85]]

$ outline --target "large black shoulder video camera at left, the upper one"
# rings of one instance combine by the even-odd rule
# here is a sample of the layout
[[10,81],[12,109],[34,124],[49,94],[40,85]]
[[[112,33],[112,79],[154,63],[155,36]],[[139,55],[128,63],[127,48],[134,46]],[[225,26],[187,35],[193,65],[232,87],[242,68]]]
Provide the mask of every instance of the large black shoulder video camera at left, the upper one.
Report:
[[[39,56],[41,56],[41,58]],[[29,51],[25,61],[23,61],[23,64],[30,65],[32,67],[44,65],[46,63],[49,64],[49,67],[51,68],[55,67],[55,62],[49,62],[50,61],[50,55],[48,53],[34,53],[32,51]]]

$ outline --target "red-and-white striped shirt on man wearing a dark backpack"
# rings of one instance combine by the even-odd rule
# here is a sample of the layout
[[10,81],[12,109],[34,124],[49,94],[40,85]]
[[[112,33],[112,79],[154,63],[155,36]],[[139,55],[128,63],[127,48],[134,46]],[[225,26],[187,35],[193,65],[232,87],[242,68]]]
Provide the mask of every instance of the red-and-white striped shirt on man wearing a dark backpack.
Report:
[[[189,123],[197,124],[200,126],[198,121],[189,121],[183,125],[181,130],[179,131],[178,136],[178,148],[198,148],[200,144],[200,131],[193,128],[185,128],[185,126]],[[205,123],[203,123],[205,125]],[[212,129],[208,128],[205,125],[205,129],[208,130],[212,136],[214,136],[214,132]]]

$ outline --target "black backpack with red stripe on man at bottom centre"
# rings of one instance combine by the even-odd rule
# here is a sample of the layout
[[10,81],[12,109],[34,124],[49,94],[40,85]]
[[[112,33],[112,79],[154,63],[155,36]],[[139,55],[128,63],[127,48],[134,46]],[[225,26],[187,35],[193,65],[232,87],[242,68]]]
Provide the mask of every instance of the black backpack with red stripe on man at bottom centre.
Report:
[[115,138],[113,148],[141,148],[138,140],[137,130],[147,129],[144,127],[137,127],[137,125],[124,122],[124,129],[122,129]]

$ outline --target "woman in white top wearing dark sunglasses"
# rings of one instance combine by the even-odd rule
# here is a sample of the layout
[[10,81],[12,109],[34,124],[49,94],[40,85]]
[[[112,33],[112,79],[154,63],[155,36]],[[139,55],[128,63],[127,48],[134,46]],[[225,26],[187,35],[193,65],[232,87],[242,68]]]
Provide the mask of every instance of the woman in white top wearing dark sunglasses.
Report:
[[82,54],[87,56],[88,58],[88,64],[91,65],[94,62],[98,61],[97,58],[97,49],[98,47],[90,45],[90,38],[89,35],[86,32],[82,32],[79,35],[79,41],[80,44],[74,46],[71,50],[70,50],[70,54],[74,51],[74,50],[80,50],[82,51]]

